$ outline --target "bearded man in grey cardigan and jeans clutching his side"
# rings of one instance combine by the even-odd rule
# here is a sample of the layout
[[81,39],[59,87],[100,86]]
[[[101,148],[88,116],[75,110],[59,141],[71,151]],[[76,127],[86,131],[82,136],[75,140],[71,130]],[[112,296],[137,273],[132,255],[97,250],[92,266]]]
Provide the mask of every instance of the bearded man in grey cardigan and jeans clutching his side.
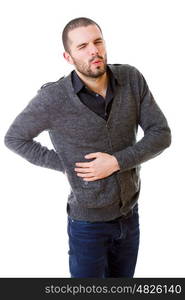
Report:
[[[139,247],[140,165],[171,143],[143,75],[107,64],[101,28],[87,18],[63,34],[67,76],[43,85],[16,117],[5,145],[66,174],[71,277],[133,277]],[[136,142],[138,125],[144,131]],[[49,131],[54,149],[34,141]]]

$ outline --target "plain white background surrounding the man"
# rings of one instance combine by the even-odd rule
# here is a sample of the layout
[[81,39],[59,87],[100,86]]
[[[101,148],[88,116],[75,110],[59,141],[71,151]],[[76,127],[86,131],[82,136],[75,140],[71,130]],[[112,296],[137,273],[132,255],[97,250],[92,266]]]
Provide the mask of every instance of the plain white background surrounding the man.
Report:
[[[172,144],[142,165],[141,243],[135,277],[185,277],[184,1],[2,1],[0,7],[0,276],[69,277],[65,176],[11,152],[3,139],[40,86],[67,75],[61,33],[90,17],[108,63],[137,67],[172,130]],[[142,135],[142,132],[139,132]],[[53,148],[47,132],[36,140]]]

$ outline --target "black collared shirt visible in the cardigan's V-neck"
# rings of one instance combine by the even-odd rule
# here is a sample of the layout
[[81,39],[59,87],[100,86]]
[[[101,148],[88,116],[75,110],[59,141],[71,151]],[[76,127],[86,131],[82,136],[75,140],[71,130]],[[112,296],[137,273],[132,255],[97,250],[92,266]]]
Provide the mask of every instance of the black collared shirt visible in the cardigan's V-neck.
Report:
[[105,120],[109,117],[117,84],[116,78],[108,66],[107,72],[109,81],[105,98],[86,87],[75,70],[72,72],[73,88],[79,99]]

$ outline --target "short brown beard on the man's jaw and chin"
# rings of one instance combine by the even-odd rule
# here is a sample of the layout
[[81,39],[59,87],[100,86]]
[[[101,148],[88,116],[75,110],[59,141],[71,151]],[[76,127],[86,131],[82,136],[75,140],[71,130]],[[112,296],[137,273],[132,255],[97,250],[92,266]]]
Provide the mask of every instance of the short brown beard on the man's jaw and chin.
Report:
[[[72,57],[72,56],[71,56]],[[107,55],[105,54],[105,57],[103,58],[102,56],[96,55],[94,56],[89,63],[83,63],[78,59],[75,59],[72,57],[74,66],[80,72],[86,77],[91,77],[91,78],[98,78],[101,77],[106,71],[107,71]],[[101,59],[102,64],[100,66],[96,66],[95,69],[91,69],[91,62],[96,60],[96,59]]]

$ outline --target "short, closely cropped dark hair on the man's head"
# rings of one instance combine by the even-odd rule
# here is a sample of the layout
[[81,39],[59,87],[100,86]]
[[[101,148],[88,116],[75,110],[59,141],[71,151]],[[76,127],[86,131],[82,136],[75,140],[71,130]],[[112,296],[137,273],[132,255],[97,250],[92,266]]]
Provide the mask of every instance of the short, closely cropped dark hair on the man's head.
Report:
[[100,26],[95,21],[93,21],[89,18],[84,18],[84,17],[76,18],[76,19],[71,20],[69,23],[67,23],[67,25],[64,27],[63,32],[62,32],[62,42],[63,42],[65,51],[70,52],[68,33],[75,28],[86,27],[89,25],[96,25],[102,33]]

